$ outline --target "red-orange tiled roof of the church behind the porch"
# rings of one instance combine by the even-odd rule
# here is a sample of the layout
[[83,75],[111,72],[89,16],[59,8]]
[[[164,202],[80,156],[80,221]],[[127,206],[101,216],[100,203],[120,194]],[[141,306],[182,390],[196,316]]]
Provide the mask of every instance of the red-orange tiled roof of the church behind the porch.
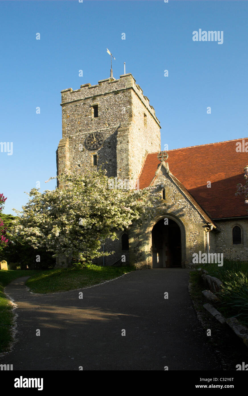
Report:
[[[246,137],[167,151],[170,172],[212,219],[248,216],[244,196],[235,196],[237,184],[245,184],[244,167],[248,165],[248,153],[236,151],[236,143],[242,139],[248,142]],[[147,155],[139,188],[148,187],[155,176],[160,164],[157,154]],[[206,187],[208,181],[211,188]]]

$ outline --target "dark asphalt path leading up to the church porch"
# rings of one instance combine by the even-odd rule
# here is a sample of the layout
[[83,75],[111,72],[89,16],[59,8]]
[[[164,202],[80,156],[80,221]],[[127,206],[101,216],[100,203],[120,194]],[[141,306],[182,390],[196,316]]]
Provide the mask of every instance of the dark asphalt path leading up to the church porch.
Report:
[[27,278],[5,288],[17,304],[17,341],[0,362],[13,370],[222,370],[193,308],[187,269],[137,270],[45,295],[30,293]]

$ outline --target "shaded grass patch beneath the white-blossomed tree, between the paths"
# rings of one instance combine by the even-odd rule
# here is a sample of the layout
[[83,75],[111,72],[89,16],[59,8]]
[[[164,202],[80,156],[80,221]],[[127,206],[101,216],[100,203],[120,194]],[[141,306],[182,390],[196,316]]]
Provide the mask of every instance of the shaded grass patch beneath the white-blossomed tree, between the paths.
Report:
[[133,270],[135,270],[134,267],[100,267],[97,265],[81,269],[57,268],[32,276],[26,285],[34,293],[54,293],[97,285]]

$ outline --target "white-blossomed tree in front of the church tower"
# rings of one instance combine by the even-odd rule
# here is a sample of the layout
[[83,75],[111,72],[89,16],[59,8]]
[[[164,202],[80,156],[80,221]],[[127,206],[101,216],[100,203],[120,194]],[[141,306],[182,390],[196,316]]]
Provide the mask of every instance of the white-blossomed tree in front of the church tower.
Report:
[[[55,179],[51,177],[49,180]],[[16,211],[10,234],[32,247],[45,248],[90,263],[109,255],[100,247],[105,239],[134,222],[142,222],[155,209],[154,187],[123,190],[110,187],[106,171],[85,168],[58,176],[62,188],[40,192],[32,188],[29,201]],[[149,198],[149,199],[148,199]]]

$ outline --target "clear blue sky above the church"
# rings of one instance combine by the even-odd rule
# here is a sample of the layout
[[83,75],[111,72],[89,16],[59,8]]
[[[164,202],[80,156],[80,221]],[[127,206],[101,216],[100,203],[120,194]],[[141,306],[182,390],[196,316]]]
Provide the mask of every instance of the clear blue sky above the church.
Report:
[[[0,141],[13,142],[0,152],[4,213],[21,210],[36,181],[55,188],[44,182],[56,175],[60,91],[108,78],[106,48],[114,77],[126,62],[150,99],[162,149],[248,136],[247,1],[0,1],[0,15]],[[194,42],[199,29],[222,30],[223,44]]]

